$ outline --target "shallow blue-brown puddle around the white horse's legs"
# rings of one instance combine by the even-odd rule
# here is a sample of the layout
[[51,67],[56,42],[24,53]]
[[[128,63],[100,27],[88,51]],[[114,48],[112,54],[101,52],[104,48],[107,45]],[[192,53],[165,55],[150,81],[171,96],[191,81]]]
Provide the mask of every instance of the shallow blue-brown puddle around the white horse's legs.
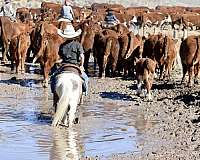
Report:
[[33,89],[34,94],[20,90],[0,97],[2,160],[73,160],[140,152],[137,144],[142,133],[154,123],[145,121],[132,106],[86,102],[80,108],[79,124],[55,129],[50,126],[50,91],[38,86]]

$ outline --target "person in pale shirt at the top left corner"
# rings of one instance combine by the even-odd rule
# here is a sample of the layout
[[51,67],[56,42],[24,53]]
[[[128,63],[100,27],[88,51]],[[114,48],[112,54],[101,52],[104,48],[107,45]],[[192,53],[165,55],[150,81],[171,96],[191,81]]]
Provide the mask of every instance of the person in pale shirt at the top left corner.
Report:
[[12,8],[10,0],[4,0],[4,5],[1,7],[0,13],[3,13],[3,16],[10,17],[12,21],[15,21],[15,11]]

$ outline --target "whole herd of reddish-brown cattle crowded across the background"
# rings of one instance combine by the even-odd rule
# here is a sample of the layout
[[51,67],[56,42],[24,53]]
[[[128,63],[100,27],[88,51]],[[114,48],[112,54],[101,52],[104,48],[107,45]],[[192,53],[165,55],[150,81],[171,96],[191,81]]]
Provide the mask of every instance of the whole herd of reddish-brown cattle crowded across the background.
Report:
[[[25,61],[39,61],[44,74],[44,86],[48,85],[51,67],[59,60],[59,47],[66,41],[57,34],[65,22],[59,22],[60,4],[43,2],[41,8],[18,8],[17,20],[0,17],[0,42],[2,62],[11,60],[11,69],[25,71]],[[138,82],[144,81],[148,93],[153,83],[155,71],[159,79],[170,79],[170,73],[176,65],[180,53],[183,78],[189,73],[188,85],[199,76],[200,36],[182,39],[180,51],[176,50],[176,39],[168,35],[154,34],[144,37],[130,31],[131,24],[142,28],[146,25],[163,27],[171,25],[173,29],[198,29],[200,27],[200,7],[157,6],[128,7],[120,4],[97,4],[90,7],[73,6],[75,18],[73,26],[82,29],[80,43],[85,51],[85,70],[88,72],[90,54],[99,66],[99,76],[133,75],[136,71]],[[107,8],[112,8],[120,24],[112,29],[103,28],[101,23]],[[133,22],[133,23],[132,23]],[[178,28],[176,28],[179,26]],[[30,56],[34,55],[34,59]],[[138,83],[140,87],[140,83]]]

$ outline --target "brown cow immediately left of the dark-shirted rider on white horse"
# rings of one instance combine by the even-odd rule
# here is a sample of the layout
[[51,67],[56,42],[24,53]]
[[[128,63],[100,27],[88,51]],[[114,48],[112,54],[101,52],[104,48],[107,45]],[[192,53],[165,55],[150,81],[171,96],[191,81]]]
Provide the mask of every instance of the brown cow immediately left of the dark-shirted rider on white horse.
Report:
[[48,87],[49,73],[53,65],[60,59],[59,48],[64,39],[58,34],[44,33],[40,41],[40,49],[33,59],[33,63],[39,59],[43,67],[44,87]]

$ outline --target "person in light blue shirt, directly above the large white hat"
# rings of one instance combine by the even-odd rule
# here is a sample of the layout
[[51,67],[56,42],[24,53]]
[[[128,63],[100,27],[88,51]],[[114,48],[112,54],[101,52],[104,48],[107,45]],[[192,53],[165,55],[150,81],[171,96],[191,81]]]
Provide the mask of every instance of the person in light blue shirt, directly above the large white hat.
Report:
[[61,9],[61,19],[59,21],[65,21],[64,19],[73,21],[74,19],[74,12],[71,7],[71,2],[69,0],[64,1],[64,5]]

